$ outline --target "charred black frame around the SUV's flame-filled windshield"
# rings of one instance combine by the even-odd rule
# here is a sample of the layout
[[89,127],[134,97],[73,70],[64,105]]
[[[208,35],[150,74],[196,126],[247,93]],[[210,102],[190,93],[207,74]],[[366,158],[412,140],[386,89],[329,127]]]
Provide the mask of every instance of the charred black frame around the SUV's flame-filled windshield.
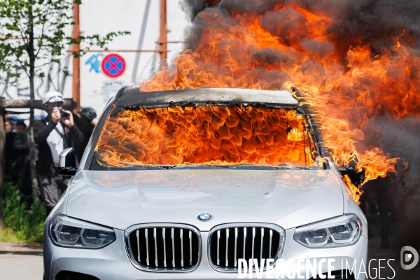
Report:
[[[99,122],[97,123],[97,127],[95,127],[95,131],[92,138],[92,146],[90,148],[90,153],[87,155],[87,159],[84,165],[85,170],[127,170],[127,168],[133,169],[133,170],[165,170],[165,169],[253,169],[253,170],[272,170],[272,169],[320,169],[320,167],[314,166],[290,166],[290,165],[279,165],[279,166],[263,166],[263,165],[163,165],[163,166],[155,166],[155,165],[127,165],[127,167],[113,167],[113,166],[106,166],[99,165],[97,163],[97,160],[95,159],[95,148],[97,146],[97,142],[99,141],[99,137],[101,135],[102,129],[106,123],[106,120],[109,117],[114,116],[116,113],[118,113],[121,110],[125,109],[132,109],[133,107],[139,108],[143,106],[139,106],[138,104],[134,106],[118,106],[118,100],[120,97],[124,94],[125,91],[130,90],[127,89],[127,87],[123,87],[120,92],[116,95],[116,99],[107,106],[107,108],[104,110],[104,113],[102,114],[102,117],[100,118]],[[295,88],[292,88],[290,90],[295,96],[300,97],[300,94],[295,90]],[[205,105],[204,105],[205,104]],[[211,106],[211,105],[218,105],[218,106],[232,106],[233,104],[214,104],[214,102],[200,102],[200,105],[198,104],[192,104],[191,102],[184,103],[184,104],[170,104],[169,106],[165,107],[173,107],[173,106]],[[305,126],[305,132],[307,136],[310,138],[308,141],[312,142],[314,144],[315,152],[318,157],[322,158],[324,157],[324,149],[321,146],[321,141],[319,138],[318,130],[316,130],[316,127],[314,127],[313,123],[311,122],[311,119],[309,118],[308,109],[306,106],[267,106],[266,104],[241,104],[237,102],[237,106],[255,106],[255,107],[262,107],[262,108],[273,108],[273,109],[295,109],[298,113],[302,114],[304,116],[306,121]],[[258,106],[259,105],[259,106]],[[158,108],[163,106],[147,106],[148,108]],[[310,146],[310,144],[309,144]],[[311,157],[312,151],[311,151]],[[322,160],[322,167],[323,169],[330,169],[328,165],[328,161]]]

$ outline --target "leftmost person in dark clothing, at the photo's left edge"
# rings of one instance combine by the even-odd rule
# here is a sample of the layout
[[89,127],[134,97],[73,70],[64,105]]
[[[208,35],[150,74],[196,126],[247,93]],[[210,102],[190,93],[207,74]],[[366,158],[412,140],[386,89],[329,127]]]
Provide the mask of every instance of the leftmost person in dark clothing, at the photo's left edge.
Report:
[[16,133],[13,132],[15,128],[14,122],[11,118],[6,118],[4,121],[4,130],[6,132],[6,144],[4,146],[4,181],[17,180],[15,171],[15,153],[13,153],[13,141],[15,141]]

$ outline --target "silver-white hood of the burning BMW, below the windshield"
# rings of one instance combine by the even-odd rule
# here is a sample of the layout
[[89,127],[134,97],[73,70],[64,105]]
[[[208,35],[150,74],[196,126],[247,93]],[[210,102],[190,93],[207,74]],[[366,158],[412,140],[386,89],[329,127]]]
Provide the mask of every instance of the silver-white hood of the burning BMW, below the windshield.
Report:
[[[331,170],[82,171],[66,194],[66,214],[125,230],[139,223],[274,223],[284,229],[343,214]],[[211,221],[198,221],[209,213]]]

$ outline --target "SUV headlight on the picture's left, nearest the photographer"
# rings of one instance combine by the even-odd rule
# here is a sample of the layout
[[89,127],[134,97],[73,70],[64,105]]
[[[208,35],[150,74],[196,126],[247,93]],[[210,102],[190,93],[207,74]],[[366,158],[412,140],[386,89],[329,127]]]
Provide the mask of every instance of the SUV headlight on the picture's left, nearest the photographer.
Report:
[[111,228],[57,215],[48,223],[52,241],[62,247],[99,249],[116,240]]

